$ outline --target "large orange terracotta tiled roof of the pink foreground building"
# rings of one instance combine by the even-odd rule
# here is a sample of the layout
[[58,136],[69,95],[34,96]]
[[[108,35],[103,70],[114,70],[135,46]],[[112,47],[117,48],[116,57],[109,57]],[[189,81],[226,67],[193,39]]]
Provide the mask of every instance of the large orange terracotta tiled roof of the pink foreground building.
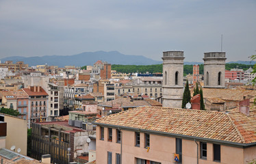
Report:
[[101,118],[97,123],[235,143],[256,142],[256,110],[246,117],[240,112],[138,107]]

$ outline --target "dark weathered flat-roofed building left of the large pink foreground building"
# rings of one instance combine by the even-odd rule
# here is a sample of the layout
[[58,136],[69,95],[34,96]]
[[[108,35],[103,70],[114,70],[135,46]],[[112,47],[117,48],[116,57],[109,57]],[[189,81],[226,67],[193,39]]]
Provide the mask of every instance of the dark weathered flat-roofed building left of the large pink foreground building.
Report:
[[90,140],[95,137],[95,130],[91,123],[85,124],[86,130],[82,129],[82,123],[81,120],[32,123],[31,157],[40,160],[42,154],[51,154],[51,163],[68,164],[88,154],[95,147]]

